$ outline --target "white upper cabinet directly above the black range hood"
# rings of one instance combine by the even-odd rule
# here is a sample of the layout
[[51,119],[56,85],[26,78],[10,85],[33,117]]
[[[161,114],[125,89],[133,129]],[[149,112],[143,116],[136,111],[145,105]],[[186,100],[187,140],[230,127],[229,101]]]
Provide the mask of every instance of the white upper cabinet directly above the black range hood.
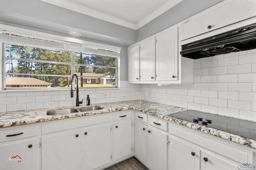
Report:
[[226,0],[186,20],[180,41],[256,16],[256,0]]

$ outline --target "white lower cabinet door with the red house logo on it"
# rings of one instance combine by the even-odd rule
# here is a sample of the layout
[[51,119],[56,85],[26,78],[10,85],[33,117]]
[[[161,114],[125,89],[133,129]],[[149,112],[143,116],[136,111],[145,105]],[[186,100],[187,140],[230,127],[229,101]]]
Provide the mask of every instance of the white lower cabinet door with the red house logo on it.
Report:
[[37,140],[0,144],[0,170],[36,170]]

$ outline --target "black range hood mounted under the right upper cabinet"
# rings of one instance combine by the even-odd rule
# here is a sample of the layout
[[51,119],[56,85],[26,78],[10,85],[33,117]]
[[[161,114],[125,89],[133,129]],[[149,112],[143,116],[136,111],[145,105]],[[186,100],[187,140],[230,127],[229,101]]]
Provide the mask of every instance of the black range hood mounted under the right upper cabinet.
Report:
[[256,48],[256,24],[211,36],[181,46],[182,57],[199,59]]

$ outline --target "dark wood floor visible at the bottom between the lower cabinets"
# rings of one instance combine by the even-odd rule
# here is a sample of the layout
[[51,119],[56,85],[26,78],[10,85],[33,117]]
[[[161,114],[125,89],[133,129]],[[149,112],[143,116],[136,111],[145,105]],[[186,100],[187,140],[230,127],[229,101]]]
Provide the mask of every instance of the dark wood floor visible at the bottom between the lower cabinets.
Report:
[[148,170],[137,158],[132,157],[104,170]]

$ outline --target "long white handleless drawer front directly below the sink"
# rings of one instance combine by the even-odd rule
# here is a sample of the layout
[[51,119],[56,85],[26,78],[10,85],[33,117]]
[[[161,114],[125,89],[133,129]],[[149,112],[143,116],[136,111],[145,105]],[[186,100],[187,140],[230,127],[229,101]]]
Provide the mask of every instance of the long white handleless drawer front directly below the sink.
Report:
[[60,120],[52,123],[45,123],[42,125],[42,134],[107,123],[110,122],[110,120],[110,114],[106,113],[103,115],[92,115],[70,120]]

